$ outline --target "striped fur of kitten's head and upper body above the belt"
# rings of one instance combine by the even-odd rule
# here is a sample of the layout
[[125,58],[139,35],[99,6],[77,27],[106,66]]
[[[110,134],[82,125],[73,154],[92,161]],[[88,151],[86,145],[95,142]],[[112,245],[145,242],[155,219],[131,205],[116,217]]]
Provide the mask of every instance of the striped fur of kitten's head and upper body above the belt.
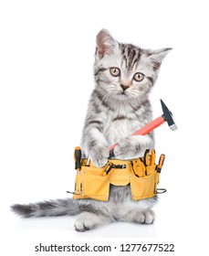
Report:
[[[112,144],[120,142],[115,149],[120,159],[139,157],[145,148],[153,147],[152,133],[143,137],[130,135],[152,121],[149,94],[162,59],[171,48],[147,50],[121,44],[104,29],[97,42],[96,86],[90,97],[81,144],[83,155],[99,167],[107,163]],[[111,68],[120,69],[120,76],[113,76]],[[143,80],[134,80],[137,73],[143,75]]]

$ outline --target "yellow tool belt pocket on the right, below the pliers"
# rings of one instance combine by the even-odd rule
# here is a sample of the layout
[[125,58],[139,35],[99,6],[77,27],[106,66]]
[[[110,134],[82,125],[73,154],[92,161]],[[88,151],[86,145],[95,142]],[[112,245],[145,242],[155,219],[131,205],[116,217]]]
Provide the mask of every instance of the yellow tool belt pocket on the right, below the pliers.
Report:
[[131,174],[131,197],[139,200],[156,195],[156,165],[146,167],[146,176],[135,176]]

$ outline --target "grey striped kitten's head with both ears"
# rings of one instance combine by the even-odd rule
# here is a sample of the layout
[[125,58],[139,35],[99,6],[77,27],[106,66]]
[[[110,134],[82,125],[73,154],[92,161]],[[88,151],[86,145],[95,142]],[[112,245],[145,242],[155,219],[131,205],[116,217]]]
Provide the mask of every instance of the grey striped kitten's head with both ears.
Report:
[[96,87],[103,95],[131,101],[147,98],[157,79],[162,59],[172,48],[141,49],[118,43],[106,29],[97,36]]

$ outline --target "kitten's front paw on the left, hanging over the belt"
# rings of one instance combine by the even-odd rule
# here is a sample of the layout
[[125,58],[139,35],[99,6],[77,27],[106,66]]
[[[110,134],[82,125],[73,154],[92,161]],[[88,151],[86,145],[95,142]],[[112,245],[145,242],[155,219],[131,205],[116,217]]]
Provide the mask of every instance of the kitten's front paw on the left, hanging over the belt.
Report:
[[102,167],[108,163],[109,150],[106,147],[97,147],[89,151],[89,158],[93,165]]

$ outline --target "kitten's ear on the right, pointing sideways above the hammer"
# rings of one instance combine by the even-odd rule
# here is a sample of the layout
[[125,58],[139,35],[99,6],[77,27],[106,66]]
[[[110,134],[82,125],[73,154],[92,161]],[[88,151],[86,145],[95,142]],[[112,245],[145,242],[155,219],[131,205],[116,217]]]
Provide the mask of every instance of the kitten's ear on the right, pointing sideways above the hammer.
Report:
[[172,48],[161,48],[157,50],[151,50],[149,52],[150,63],[154,70],[160,69],[162,64],[162,59],[172,50]]

